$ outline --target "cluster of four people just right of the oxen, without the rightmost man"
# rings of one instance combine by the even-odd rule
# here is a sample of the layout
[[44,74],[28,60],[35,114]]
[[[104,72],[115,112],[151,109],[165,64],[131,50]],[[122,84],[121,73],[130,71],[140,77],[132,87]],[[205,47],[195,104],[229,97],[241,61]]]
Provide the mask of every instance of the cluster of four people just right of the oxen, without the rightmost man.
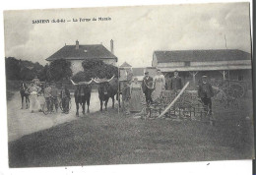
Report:
[[153,78],[149,72],[145,72],[142,85],[138,82],[138,78],[134,78],[132,82],[126,82],[122,89],[123,108],[126,114],[130,112],[140,112],[143,108],[143,95],[145,95],[147,105],[154,103],[160,97],[165,89],[179,90],[183,87],[178,72],[174,72],[174,77],[166,82],[160,70]]

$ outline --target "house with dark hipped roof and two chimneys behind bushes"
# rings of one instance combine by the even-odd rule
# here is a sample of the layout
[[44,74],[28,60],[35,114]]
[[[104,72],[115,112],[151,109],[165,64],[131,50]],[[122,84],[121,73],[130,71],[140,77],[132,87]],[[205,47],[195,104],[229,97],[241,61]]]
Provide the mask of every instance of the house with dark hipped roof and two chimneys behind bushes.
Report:
[[106,64],[115,65],[117,57],[113,54],[113,40],[110,40],[110,49],[107,50],[102,44],[92,45],[80,45],[79,41],[76,41],[75,45],[65,45],[53,55],[46,58],[46,61],[51,62],[58,59],[65,59],[71,62],[71,69],[73,75],[83,71],[82,62],[85,59],[98,58]]

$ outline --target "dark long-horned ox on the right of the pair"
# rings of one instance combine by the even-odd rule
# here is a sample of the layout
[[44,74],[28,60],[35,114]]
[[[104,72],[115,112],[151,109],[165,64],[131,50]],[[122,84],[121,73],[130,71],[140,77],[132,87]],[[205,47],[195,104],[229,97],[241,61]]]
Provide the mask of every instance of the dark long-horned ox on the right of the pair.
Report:
[[112,98],[112,108],[114,108],[114,95],[118,92],[118,80],[114,76],[109,79],[94,79],[98,85],[98,98],[100,101],[100,111],[102,111],[102,105],[104,102],[105,110],[107,110],[107,102],[109,97]]

